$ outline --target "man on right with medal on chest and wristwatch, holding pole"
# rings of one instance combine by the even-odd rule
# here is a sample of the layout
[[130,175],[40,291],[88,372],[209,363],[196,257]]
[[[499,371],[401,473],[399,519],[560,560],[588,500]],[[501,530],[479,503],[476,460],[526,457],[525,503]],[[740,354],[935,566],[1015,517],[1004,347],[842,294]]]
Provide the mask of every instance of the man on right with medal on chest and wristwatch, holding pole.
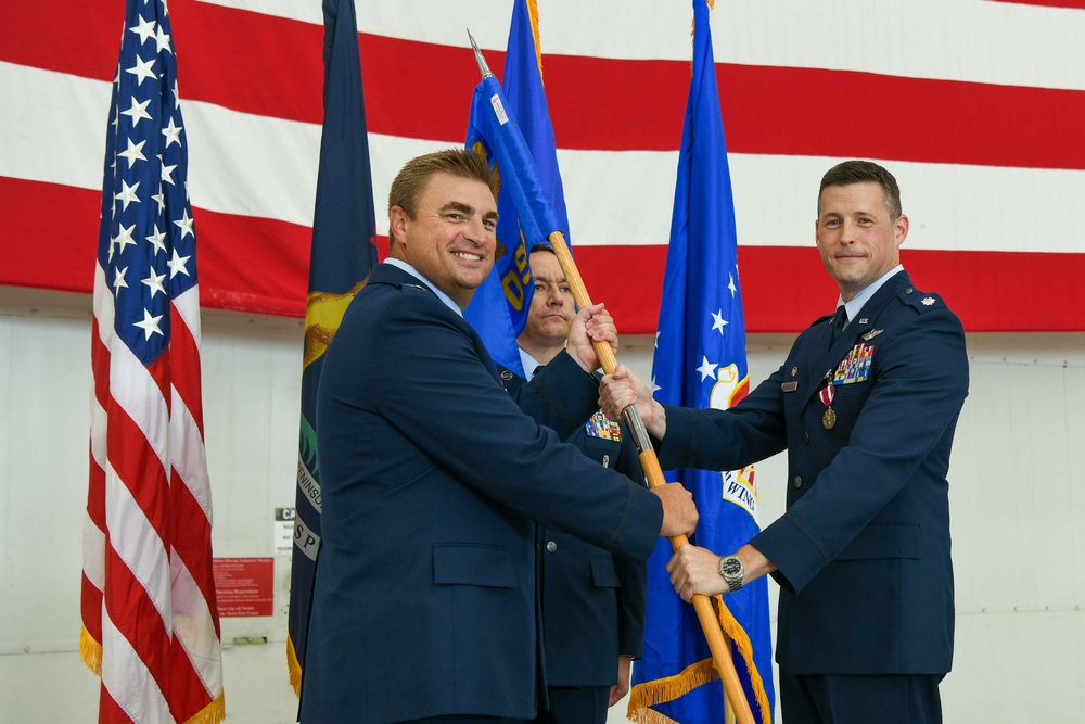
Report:
[[667,566],[686,600],[765,574],[780,584],[787,724],[942,721],[954,632],[946,473],[968,359],[960,320],[901,265],[907,236],[892,174],[841,163],[821,179],[815,237],[846,317],[815,321],[731,409],[662,406],[623,367],[603,380],[603,409],[636,403],[664,468],[737,470],[788,450],[781,518],[737,551],[684,546]]

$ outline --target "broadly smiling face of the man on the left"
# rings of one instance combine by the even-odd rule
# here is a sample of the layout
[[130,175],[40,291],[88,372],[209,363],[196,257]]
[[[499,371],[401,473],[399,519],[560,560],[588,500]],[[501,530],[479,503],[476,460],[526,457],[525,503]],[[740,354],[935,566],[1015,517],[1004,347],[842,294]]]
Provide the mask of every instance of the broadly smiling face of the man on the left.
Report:
[[462,309],[494,266],[497,201],[482,181],[445,172],[433,174],[411,218],[401,206],[388,211],[391,255],[445,292]]

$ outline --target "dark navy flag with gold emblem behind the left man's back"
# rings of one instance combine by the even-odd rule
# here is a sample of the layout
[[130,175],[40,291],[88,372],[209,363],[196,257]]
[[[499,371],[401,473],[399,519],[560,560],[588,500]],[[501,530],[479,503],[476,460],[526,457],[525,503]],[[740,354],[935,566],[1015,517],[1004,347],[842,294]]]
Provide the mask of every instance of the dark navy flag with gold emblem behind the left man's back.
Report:
[[320,550],[320,468],[316,402],[323,355],[343,313],[376,264],[373,182],[361,87],[354,0],[324,0],[324,125],[312,218],[309,292],[302,360],[294,548],[290,575],[286,663],[301,691],[309,606]]

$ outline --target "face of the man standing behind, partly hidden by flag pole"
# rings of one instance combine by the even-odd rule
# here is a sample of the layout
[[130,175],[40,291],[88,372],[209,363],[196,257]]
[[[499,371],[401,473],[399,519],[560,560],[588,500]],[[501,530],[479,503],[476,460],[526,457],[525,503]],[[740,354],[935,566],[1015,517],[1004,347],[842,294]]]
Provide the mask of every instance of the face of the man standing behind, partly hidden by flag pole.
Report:
[[573,290],[565,281],[557,256],[551,252],[534,252],[531,265],[535,293],[527,310],[527,323],[516,341],[524,351],[545,364],[565,346],[576,309]]

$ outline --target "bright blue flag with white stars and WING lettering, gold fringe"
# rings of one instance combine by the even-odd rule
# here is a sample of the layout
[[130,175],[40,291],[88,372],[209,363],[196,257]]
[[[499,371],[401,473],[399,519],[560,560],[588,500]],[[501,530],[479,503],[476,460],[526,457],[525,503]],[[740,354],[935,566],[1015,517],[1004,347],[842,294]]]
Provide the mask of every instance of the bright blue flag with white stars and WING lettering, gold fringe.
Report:
[[[716,86],[709,9],[693,0],[693,74],[681,149],[671,243],[663,279],[652,386],[658,401],[686,407],[735,405],[749,391],[745,325],[727,144]],[[668,473],[692,492],[700,513],[695,545],[738,550],[760,532],[753,468]],[[693,607],[675,595],[661,541],[649,560],[643,660],[634,665],[630,716],[700,724],[724,721],[723,687]],[[774,702],[768,584],[763,577],[723,597],[724,630],[754,717],[771,722]],[[646,709],[650,710],[644,711]]]

